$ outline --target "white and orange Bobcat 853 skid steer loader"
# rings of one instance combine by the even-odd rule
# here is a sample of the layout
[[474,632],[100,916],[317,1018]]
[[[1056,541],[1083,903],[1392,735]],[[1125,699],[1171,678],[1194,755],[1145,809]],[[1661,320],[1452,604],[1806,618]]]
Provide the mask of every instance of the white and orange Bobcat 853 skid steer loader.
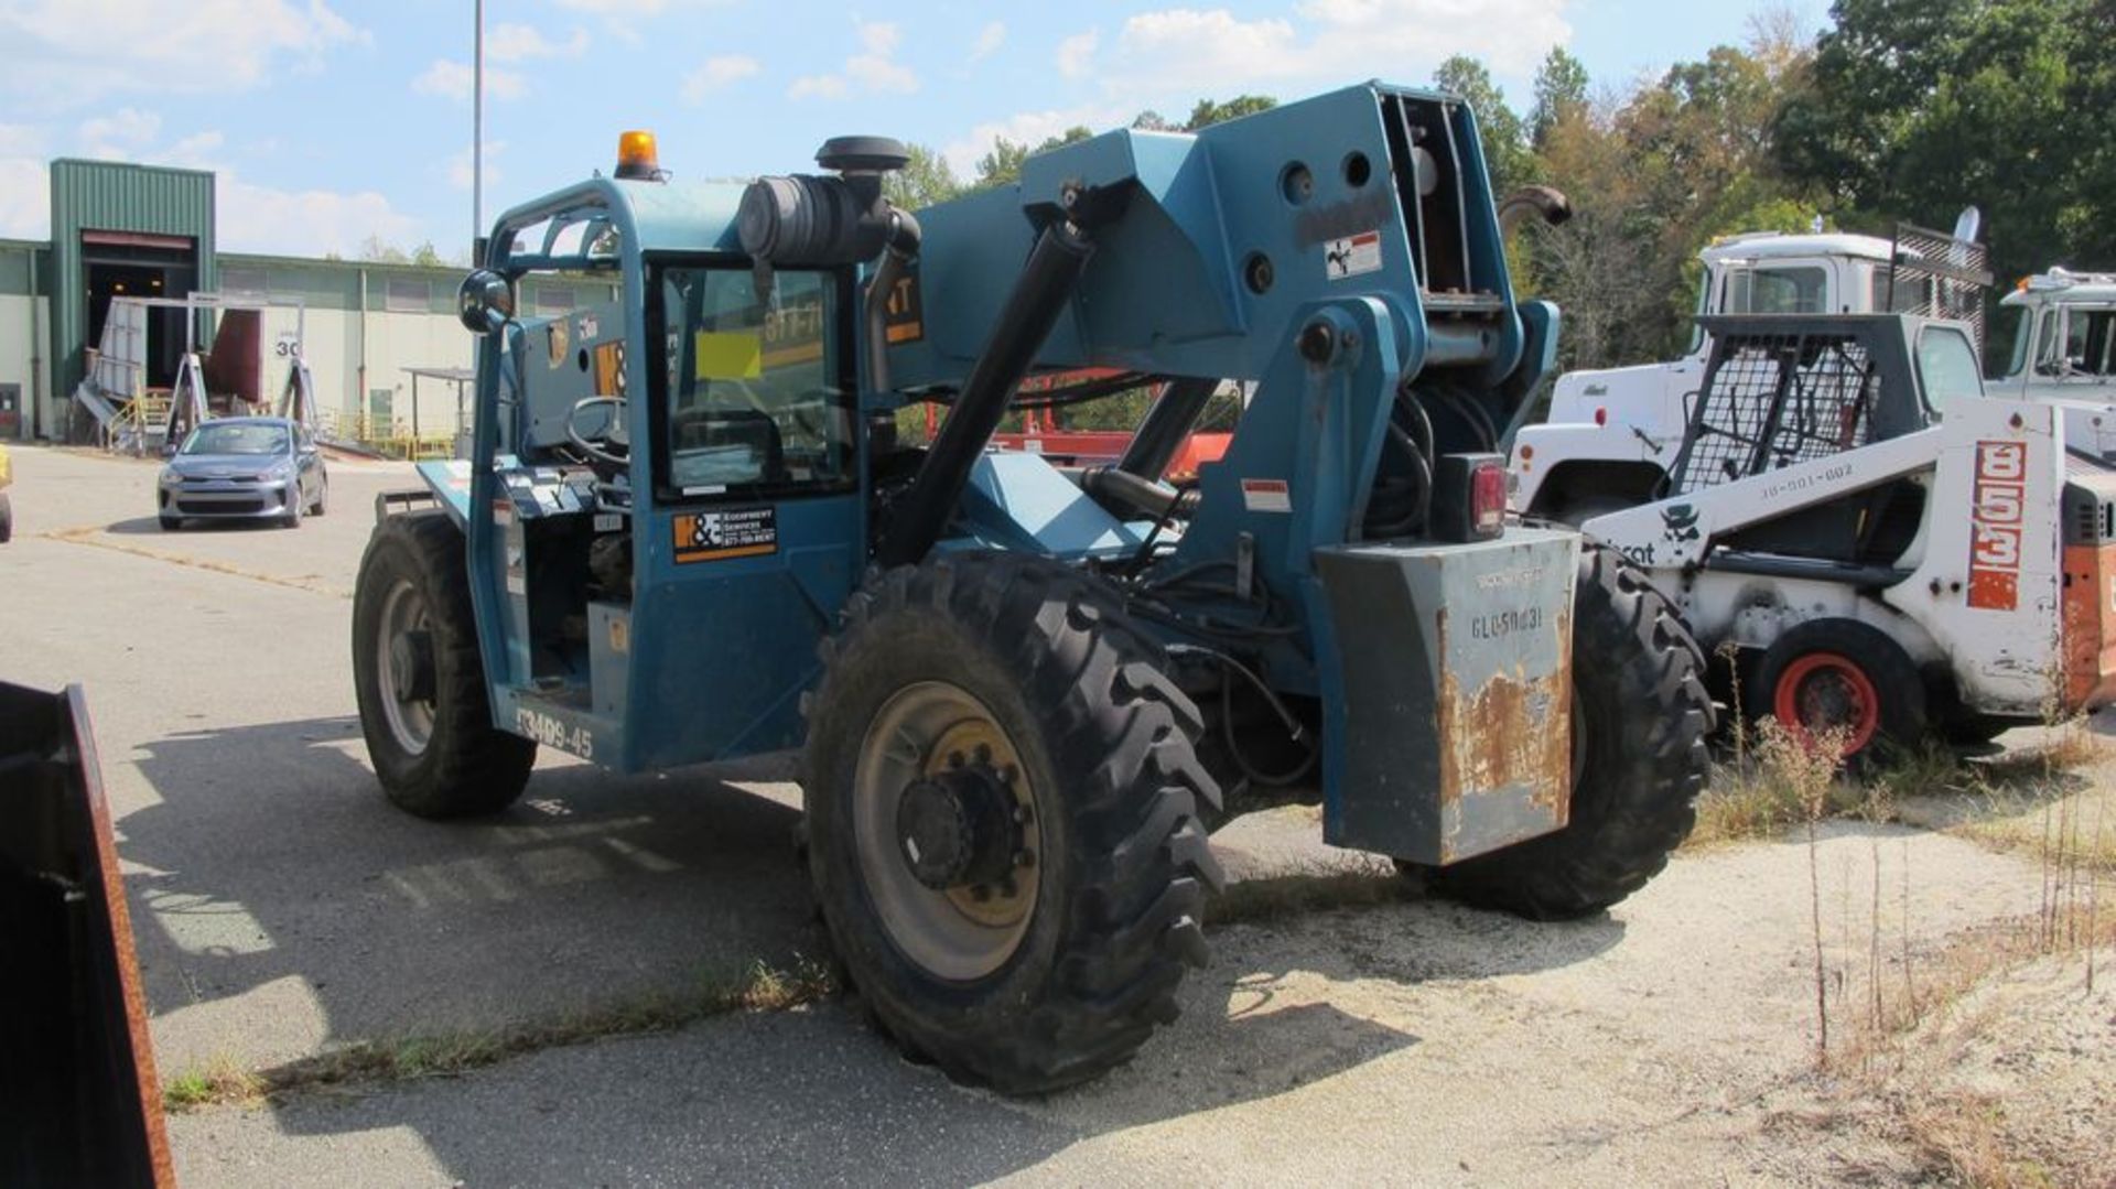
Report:
[[[1557,512],[1646,567],[1705,652],[1733,645],[1748,713],[1871,757],[2116,698],[2116,470],[2065,449],[2080,410],[1987,398],[1951,322],[1703,322],[1680,440],[1638,446],[1653,480]],[[1562,457],[1619,438],[1538,434]],[[1511,465],[1532,480],[1536,444]]]

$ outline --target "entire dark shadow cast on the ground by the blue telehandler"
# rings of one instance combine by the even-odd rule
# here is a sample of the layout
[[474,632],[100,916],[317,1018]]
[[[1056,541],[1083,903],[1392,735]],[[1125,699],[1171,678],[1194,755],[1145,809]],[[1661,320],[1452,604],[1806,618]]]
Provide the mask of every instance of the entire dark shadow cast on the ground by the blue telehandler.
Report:
[[[298,1051],[493,1028],[686,988],[758,956],[819,954],[791,859],[794,806],[722,779],[783,779],[770,762],[667,779],[540,770],[499,819],[440,825],[389,808],[358,755],[353,719],[146,749],[140,770],[165,800],[123,821],[123,853],[142,867],[129,876],[142,965],[159,1016],[201,1016],[195,1028],[157,1024],[182,1054],[165,1047],[167,1073],[229,1032],[262,1049],[243,1064],[273,1064],[286,1060],[264,1043],[275,1028]],[[868,1032],[857,1003],[825,1003],[461,1079],[296,1096],[271,1121],[292,1136],[408,1128],[463,1183],[654,1181],[639,1170],[656,1168],[675,1183],[969,1183],[1090,1134],[1270,1098],[1418,1045],[1318,1001],[1316,980],[1416,988],[1547,969],[1604,952],[1623,925],[1526,933],[1430,901],[1223,929],[1174,1028],[1045,1104],[954,1087]]]

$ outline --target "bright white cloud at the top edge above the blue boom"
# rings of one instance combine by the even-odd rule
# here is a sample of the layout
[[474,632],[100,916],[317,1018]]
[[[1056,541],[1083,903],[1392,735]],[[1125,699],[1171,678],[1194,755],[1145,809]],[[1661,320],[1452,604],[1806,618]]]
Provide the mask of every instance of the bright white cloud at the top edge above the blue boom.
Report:
[[1500,74],[1532,74],[1572,40],[1570,0],[1303,0],[1295,19],[1227,8],[1138,13],[1117,34],[1111,87],[1151,76],[1164,89],[1246,89],[1344,78],[1416,80],[1466,53]]

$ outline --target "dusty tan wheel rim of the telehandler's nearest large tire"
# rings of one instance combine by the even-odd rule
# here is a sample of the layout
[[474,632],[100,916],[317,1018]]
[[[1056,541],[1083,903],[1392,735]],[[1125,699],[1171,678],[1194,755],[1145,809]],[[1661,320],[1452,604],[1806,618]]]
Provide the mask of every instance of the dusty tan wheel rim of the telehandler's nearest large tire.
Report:
[[[1003,880],[937,891],[906,857],[906,787],[965,768],[990,770],[1011,806],[1014,867]],[[927,973],[969,982],[997,971],[1035,920],[1043,827],[1020,749],[973,694],[948,681],[897,690],[874,715],[853,774],[853,840],[868,897],[895,948]]]

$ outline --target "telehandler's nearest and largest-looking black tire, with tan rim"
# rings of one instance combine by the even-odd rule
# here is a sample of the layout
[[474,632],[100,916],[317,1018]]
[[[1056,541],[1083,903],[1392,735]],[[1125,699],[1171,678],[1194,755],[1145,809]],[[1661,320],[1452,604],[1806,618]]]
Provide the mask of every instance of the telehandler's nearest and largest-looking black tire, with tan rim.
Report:
[[[1003,1094],[1126,1062],[1174,1020],[1221,884],[1200,821],[1219,789],[1160,645],[1066,565],[956,554],[872,578],[821,654],[808,872],[865,1009],[914,1060]],[[935,850],[906,825],[914,787],[944,779],[969,781],[956,806],[1011,817],[1001,850],[975,844],[1001,882],[916,870]],[[940,853],[973,853],[952,838]]]

